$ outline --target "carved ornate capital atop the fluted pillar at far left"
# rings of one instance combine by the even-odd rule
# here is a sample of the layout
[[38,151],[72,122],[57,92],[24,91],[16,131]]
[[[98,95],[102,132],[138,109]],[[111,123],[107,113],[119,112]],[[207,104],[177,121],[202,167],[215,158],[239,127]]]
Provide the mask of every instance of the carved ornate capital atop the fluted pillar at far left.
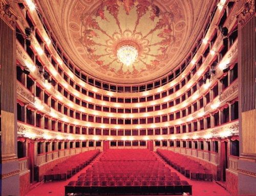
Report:
[[11,11],[11,5],[8,3],[0,2],[0,15],[7,21],[7,23],[15,28],[17,16]]

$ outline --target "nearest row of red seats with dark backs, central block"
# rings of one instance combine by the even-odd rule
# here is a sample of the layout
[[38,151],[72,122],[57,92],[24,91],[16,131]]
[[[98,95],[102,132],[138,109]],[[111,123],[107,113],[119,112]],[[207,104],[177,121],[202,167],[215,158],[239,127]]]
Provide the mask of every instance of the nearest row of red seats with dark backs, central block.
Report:
[[192,194],[187,181],[71,181],[65,195],[85,194]]

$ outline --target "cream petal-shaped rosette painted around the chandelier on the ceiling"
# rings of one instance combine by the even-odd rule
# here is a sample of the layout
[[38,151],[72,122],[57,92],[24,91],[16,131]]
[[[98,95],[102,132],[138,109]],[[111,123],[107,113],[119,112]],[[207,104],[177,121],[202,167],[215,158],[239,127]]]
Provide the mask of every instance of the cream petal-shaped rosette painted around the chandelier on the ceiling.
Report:
[[[106,0],[81,15],[80,42],[98,71],[126,79],[146,76],[161,68],[175,42],[172,18],[153,1]],[[126,60],[120,60],[120,49]],[[129,56],[136,58],[130,62]]]

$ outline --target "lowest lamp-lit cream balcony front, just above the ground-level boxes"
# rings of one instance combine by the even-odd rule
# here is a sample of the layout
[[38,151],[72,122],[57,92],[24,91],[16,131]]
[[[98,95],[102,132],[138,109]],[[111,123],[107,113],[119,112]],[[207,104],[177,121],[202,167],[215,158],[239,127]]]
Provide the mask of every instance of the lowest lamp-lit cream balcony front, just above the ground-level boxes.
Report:
[[18,122],[17,134],[20,137],[31,139],[47,138],[59,140],[186,140],[186,139],[204,139],[224,138],[231,135],[238,135],[238,121],[234,121],[216,128],[200,130],[194,133],[155,135],[155,136],[98,136],[98,135],[80,135],[52,132],[47,129],[41,129]]

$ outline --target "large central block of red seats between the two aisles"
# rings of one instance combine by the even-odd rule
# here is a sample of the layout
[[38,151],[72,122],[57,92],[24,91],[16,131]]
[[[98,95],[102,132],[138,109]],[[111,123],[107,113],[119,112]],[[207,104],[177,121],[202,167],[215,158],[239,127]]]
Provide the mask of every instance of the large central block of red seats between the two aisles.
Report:
[[[65,186],[66,195],[87,194],[191,194],[180,180],[147,149],[111,149],[103,153],[77,181]],[[79,195],[80,195],[79,194]]]

